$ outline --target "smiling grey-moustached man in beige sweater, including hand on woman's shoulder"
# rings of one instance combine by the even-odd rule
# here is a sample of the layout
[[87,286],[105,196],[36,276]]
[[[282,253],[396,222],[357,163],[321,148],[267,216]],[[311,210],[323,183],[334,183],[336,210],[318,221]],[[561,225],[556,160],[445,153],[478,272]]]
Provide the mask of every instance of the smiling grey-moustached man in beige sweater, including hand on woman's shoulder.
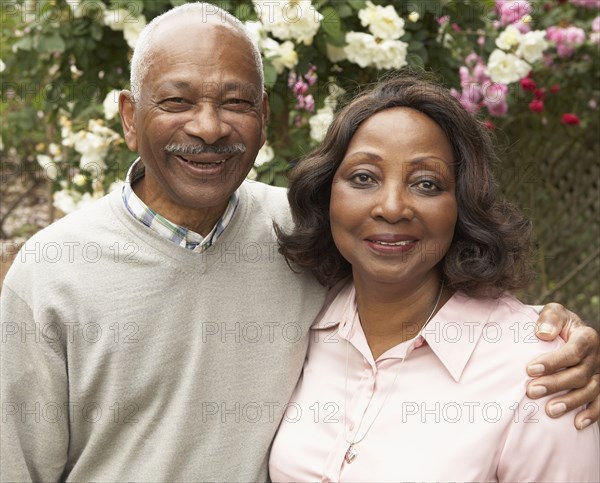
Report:
[[[325,289],[277,253],[285,191],[244,182],[265,140],[260,55],[233,17],[188,4],[146,27],[131,70],[123,192],[38,233],[6,277],[2,478],[266,480]],[[545,321],[556,334],[567,315]],[[534,364],[590,354],[537,380],[585,386],[560,413],[596,395],[590,330]]]

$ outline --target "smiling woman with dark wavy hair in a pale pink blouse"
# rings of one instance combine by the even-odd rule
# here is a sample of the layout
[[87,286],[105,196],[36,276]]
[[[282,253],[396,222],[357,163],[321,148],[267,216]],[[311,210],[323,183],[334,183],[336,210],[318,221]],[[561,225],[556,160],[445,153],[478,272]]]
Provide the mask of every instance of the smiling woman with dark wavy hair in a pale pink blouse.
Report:
[[291,178],[292,266],[334,289],[273,444],[274,481],[598,481],[598,427],[528,399],[557,348],[509,295],[530,224],[443,88],[396,77],[344,108]]

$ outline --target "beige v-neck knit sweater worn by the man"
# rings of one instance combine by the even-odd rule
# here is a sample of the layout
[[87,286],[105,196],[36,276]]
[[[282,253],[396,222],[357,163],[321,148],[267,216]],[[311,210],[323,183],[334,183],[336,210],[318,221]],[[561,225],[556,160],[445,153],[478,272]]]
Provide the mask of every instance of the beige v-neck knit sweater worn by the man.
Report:
[[273,220],[285,190],[247,181],[204,253],[118,191],[31,238],[2,290],[2,480],[266,480],[325,295]]

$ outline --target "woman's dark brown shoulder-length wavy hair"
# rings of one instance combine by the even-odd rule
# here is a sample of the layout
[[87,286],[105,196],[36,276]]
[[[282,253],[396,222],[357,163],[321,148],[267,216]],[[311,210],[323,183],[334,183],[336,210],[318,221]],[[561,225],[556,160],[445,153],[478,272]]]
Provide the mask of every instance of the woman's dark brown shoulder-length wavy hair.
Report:
[[336,114],[323,143],[290,173],[288,199],[295,228],[285,233],[275,227],[280,253],[290,266],[310,270],[326,286],[351,274],[350,263],[331,236],[333,177],[359,126],[394,107],[414,109],[433,119],[453,148],[458,219],[441,262],[447,286],[469,295],[494,296],[523,287],[529,281],[531,224],[499,197],[488,130],[446,88],[424,75],[384,79]]

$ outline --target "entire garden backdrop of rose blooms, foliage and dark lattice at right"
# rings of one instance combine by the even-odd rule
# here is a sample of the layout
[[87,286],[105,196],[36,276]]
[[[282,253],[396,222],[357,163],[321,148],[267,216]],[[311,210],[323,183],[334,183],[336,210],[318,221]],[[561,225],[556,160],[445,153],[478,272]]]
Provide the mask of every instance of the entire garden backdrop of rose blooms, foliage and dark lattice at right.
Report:
[[[180,3],[0,2],[3,183],[47,180],[64,213],[119,189],[135,157],[117,105],[131,51],[148,21]],[[338,106],[388,69],[433,71],[494,130],[503,190],[534,220],[538,278],[525,300],[599,319],[600,2],[215,3],[264,59],[271,119],[251,177],[285,185]]]

